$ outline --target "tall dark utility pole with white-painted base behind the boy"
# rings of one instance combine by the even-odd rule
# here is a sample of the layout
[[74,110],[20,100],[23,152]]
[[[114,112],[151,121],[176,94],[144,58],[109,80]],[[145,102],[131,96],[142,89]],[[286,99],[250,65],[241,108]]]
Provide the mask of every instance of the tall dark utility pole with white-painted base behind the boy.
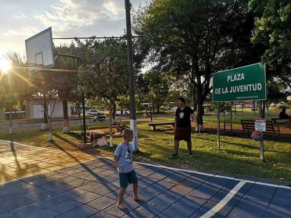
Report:
[[138,151],[138,136],[136,125],[136,111],[135,111],[135,87],[134,87],[134,72],[133,72],[133,56],[132,56],[132,42],[131,42],[131,20],[130,20],[131,3],[125,0],[125,14],[126,14],[126,33],[127,33],[127,47],[128,47],[128,69],[129,69],[129,104],[130,104],[130,129],[133,130],[133,151]]

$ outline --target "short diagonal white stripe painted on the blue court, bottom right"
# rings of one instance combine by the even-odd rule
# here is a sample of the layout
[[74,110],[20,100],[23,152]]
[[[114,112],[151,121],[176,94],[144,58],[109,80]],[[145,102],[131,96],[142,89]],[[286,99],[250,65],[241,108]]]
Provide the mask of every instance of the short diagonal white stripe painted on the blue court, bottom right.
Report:
[[240,190],[240,188],[245,184],[245,182],[239,182],[231,191],[224,197],[219,203],[217,203],[211,210],[200,218],[210,218],[214,216],[218,211],[220,211],[226,203],[228,203],[233,196]]

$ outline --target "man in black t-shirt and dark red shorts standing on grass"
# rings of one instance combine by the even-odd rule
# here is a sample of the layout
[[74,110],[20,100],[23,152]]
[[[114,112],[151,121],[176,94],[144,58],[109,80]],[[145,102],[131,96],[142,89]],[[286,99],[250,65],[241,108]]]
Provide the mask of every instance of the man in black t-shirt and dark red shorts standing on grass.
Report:
[[178,98],[178,109],[176,110],[175,116],[175,137],[174,137],[174,149],[175,154],[170,155],[171,158],[176,158],[178,156],[179,141],[184,140],[187,142],[189,156],[194,156],[192,154],[192,142],[191,142],[191,117],[198,124],[197,118],[194,115],[194,111],[186,106],[185,98]]

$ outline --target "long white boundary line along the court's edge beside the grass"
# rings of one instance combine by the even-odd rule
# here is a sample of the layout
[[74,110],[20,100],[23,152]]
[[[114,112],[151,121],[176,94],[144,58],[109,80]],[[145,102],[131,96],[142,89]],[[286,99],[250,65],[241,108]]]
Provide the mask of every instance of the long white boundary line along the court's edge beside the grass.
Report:
[[[0,141],[11,142],[11,141],[7,141],[7,140],[0,140]],[[21,144],[21,143],[17,143],[17,142],[13,142],[13,143],[19,144],[19,145],[24,145],[24,146],[30,146],[30,147],[34,147],[34,148],[37,147],[37,146],[26,145],[26,144]],[[79,153],[79,152],[68,152],[68,151],[62,151],[62,150],[57,150],[57,149],[53,149],[53,148],[42,148],[42,147],[37,147],[37,148],[51,149],[51,150],[60,151],[60,152],[64,152],[64,153],[82,154],[82,153]],[[86,155],[88,155],[88,154],[86,154]],[[88,156],[94,156],[94,157],[98,157],[98,158],[105,158],[105,159],[113,160],[113,158],[105,157],[105,156],[95,156],[95,155],[88,155]],[[146,165],[146,166],[149,166],[149,167],[158,167],[158,168],[167,169],[167,170],[190,172],[190,173],[195,173],[195,174],[200,174],[200,175],[207,175],[207,176],[213,176],[213,177],[217,177],[217,178],[223,178],[223,179],[235,180],[235,181],[240,181],[240,182],[258,184],[258,185],[262,185],[262,186],[281,187],[281,188],[291,189],[291,187],[288,187],[288,186],[281,186],[281,185],[275,185],[275,184],[270,184],[270,183],[255,182],[255,181],[251,181],[251,180],[238,179],[238,178],[229,177],[229,176],[215,175],[215,174],[210,174],[210,173],[206,173],[206,172],[190,171],[190,170],[184,170],[184,169],[179,169],[179,168],[166,167],[166,166],[162,166],[162,165],[154,165],[154,164],[136,162],[136,161],[134,161],[133,163],[138,163],[138,164]]]

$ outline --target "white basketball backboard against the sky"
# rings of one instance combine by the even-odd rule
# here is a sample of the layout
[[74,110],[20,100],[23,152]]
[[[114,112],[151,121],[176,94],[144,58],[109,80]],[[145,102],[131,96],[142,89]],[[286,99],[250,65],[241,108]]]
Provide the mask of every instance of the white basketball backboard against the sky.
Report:
[[55,66],[51,27],[25,40],[25,47],[29,66]]

